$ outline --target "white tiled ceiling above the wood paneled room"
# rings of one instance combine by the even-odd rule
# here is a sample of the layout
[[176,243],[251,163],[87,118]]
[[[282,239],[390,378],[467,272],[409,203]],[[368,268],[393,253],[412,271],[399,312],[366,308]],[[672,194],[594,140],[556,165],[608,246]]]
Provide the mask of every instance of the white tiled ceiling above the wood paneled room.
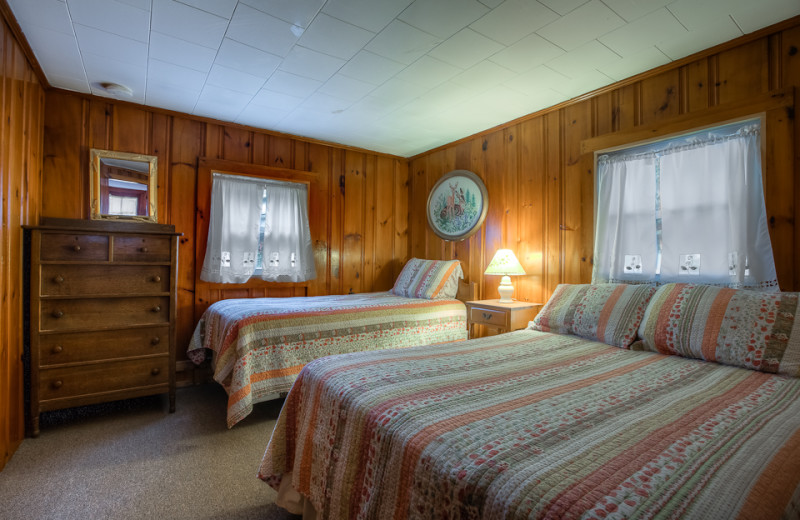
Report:
[[8,0],[56,87],[411,156],[798,0]]

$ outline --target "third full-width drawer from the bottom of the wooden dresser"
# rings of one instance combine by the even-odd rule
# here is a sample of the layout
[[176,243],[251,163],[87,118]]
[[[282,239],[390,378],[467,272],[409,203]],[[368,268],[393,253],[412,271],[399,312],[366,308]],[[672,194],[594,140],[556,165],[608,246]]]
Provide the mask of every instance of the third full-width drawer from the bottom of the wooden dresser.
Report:
[[110,329],[169,323],[169,297],[41,300],[41,330]]

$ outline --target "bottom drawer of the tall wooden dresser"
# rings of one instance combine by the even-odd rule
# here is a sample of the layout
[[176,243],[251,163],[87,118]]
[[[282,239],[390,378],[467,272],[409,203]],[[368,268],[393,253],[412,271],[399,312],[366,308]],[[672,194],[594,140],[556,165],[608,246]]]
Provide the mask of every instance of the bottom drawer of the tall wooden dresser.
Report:
[[169,384],[169,356],[110,361],[39,371],[39,399],[62,399]]

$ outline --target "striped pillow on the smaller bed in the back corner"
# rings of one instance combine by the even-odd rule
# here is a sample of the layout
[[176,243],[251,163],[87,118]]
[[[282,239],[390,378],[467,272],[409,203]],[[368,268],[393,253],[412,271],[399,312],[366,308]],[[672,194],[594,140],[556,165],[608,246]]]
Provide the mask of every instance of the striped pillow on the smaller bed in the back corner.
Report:
[[458,260],[412,258],[400,271],[391,292],[407,298],[452,299],[461,278],[464,271]]

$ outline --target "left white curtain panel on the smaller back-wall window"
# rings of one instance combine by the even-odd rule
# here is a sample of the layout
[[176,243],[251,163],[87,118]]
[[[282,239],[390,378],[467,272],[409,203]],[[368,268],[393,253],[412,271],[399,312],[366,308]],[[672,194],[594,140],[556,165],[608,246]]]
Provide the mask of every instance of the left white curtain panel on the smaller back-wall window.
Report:
[[214,174],[211,221],[201,280],[244,283],[253,275],[263,196],[264,185],[261,183]]

